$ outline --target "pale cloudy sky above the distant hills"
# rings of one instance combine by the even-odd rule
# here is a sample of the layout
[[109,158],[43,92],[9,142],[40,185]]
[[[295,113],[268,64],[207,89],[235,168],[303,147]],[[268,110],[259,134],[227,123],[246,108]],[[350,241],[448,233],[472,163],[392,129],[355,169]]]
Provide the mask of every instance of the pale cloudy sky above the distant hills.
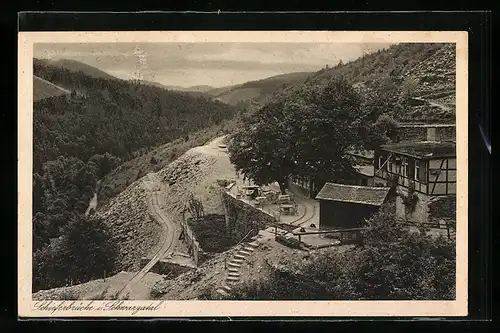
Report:
[[318,71],[390,44],[95,43],[35,44],[34,56],[72,59],[122,79],[222,87],[273,75]]

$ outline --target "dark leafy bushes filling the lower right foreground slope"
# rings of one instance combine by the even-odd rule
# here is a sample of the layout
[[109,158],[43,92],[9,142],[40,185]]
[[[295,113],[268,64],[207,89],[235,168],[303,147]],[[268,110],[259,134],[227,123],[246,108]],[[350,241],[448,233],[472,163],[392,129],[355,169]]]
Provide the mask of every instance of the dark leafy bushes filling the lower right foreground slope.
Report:
[[[392,207],[393,208],[393,207]],[[368,221],[362,247],[283,263],[257,283],[235,288],[236,299],[453,300],[455,242],[410,232],[391,207]],[[282,288],[286,285],[287,288]]]

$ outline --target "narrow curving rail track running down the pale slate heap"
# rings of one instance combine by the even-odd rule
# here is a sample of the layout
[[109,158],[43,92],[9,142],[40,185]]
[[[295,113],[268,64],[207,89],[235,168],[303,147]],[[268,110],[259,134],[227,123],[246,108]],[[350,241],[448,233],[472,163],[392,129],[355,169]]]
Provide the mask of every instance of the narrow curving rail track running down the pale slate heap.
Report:
[[[148,176],[149,179],[151,177]],[[148,186],[149,187],[149,186]],[[117,299],[122,299],[124,296],[126,296],[130,292],[130,287],[133,286],[135,283],[138,283],[148,272],[153,266],[167,253],[170,249],[172,249],[175,246],[175,234],[176,234],[176,229],[172,221],[165,216],[163,213],[163,210],[160,207],[159,201],[158,201],[158,191],[155,191],[151,189],[151,199],[150,199],[150,208],[151,212],[154,216],[154,218],[165,227],[165,233],[162,237],[163,241],[161,243],[161,247],[158,251],[155,252],[153,258],[134,276],[127,282],[125,286],[123,286],[122,289],[117,294]]]

